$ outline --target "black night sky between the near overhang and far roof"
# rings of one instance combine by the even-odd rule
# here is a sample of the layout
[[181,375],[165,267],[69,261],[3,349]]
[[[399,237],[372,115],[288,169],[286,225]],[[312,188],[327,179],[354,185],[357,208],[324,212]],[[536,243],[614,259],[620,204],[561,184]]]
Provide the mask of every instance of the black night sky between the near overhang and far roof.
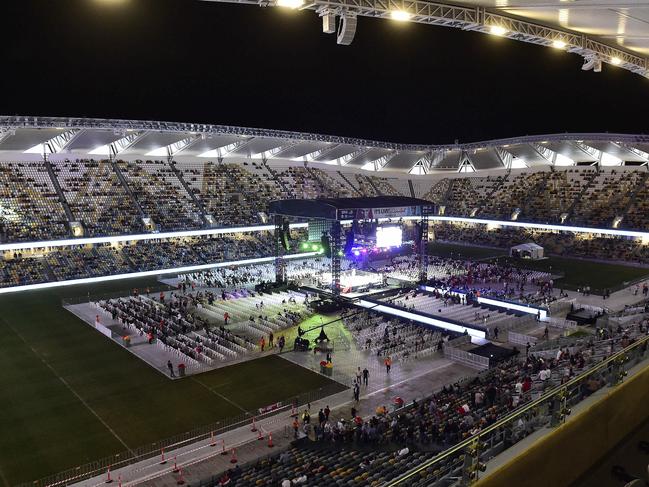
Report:
[[206,122],[413,143],[647,130],[649,81],[457,29],[198,0],[4,1],[0,114]]

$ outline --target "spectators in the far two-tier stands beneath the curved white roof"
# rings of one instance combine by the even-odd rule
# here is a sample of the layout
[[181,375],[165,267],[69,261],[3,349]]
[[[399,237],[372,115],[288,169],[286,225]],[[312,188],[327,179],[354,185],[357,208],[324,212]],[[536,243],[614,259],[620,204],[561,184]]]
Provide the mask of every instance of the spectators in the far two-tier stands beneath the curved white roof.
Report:
[[[274,199],[409,192],[405,179],[297,166],[271,169],[256,161],[169,165],[161,161],[113,164],[83,159],[53,162],[52,170],[63,200],[45,163],[0,163],[0,239],[17,242],[69,236],[66,207],[87,236],[99,236],[150,231],[143,226],[145,216],[159,230],[201,228],[207,215],[219,226],[245,225],[266,221],[267,204]],[[640,170],[523,171],[495,177],[444,178],[430,180],[429,184],[427,189],[417,181],[413,188],[421,193],[418,196],[443,206],[446,215],[509,219],[514,210],[520,210],[519,219],[528,221],[604,227],[610,227],[609,220],[620,216],[620,228],[644,228],[643,219],[649,214],[643,206],[649,180]],[[435,222],[433,231],[436,239],[448,242],[508,248],[533,241],[547,254],[649,263],[649,246],[636,238],[470,223]],[[299,240],[300,235],[293,233]],[[50,255],[39,260],[46,254]],[[0,261],[2,275],[6,276],[0,286],[273,254],[270,233],[131,242],[110,251],[78,246],[56,252],[35,249],[21,260],[12,259],[9,252]],[[405,262],[391,271],[416,278],[418,269]],[[312,273],[304,277],[310,278]]]

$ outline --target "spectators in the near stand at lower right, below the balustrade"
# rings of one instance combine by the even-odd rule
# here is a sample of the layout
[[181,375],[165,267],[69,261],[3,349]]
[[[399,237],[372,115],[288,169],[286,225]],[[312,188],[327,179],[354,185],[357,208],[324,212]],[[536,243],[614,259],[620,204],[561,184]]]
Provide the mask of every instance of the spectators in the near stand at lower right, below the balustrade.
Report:
[[[597,363],[646,336],[649,323],[598,330],[594,335],[566,345],[548,343],[545,349],[501,362],[497,367],[441,390],[391,407],[381,405],[374,414],[358,415],[356,407],[317,414],[305,409],[293,423],[302,442],[223,478],[236,487],[258,485],[374,485],[394,478],[458,442],[473,437],[503,416],[539,397],[549,388],[565,384]],[[569,393],[573,405],[602,388],[609,371],[592,374]],[[355,405],[355,403],[353,403]],[[494,445],[508,447],[544,424],[542,415],[558,411],[551,404],[546,412],[521,417],[513,428],[495,433]],[[308,440],[307,440],[308,438]],[[310,441],[309,441],[310,440]],[[484,440],[484,439],[483,439]],[[356,452],[356,454],[354,454]],[[461,462],[449,458],[435,471],[423,472],[431,482],[459,469]],[[380,483],[380,482],[379,482]],[[350,484],[350,485],[352,485]],[[376,484],[378,485],[378,483]]]

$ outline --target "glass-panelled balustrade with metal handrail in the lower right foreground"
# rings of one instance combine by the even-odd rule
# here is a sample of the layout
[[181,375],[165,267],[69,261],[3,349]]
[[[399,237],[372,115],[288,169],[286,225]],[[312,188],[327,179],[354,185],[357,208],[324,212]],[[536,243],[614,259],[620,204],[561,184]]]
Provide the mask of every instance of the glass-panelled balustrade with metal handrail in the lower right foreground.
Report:
[[627,371],[646,360],[649,337],[644,336],[625,349],[591,367],[564,384],[557,385],[530,403],[521,406],[493,425],[439,453],[416,468],[388,482],[388,487],[408,485],[423,487],[447,480],[475,482],[479,472],[501,451],[547,426],[565,422],[570,408],[591,393],[619,384]]

